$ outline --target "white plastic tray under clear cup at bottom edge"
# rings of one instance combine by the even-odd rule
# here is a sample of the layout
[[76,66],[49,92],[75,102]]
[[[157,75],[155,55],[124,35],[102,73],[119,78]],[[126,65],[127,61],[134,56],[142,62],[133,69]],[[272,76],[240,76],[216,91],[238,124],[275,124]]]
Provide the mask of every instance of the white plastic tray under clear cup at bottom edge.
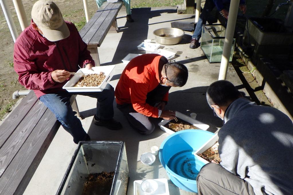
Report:
[[[169,195],[168,180],[166,178],[154,180],[158,183],[158,189],[152,195]],[[142,182],[143,180],[136,180],[133,182],[134,195],[145,195],[140,187]]]

